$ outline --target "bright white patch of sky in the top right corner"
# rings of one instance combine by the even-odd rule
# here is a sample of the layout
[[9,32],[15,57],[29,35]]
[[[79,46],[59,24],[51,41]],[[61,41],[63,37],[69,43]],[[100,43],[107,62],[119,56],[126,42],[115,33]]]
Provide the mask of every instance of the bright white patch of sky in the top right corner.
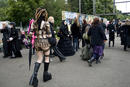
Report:
[[[116,2],[120,1],[130,1],[130,0],[115,0]],[[129,3],[116,3],[117,9],[122,12],[130,12],[130,2]]]

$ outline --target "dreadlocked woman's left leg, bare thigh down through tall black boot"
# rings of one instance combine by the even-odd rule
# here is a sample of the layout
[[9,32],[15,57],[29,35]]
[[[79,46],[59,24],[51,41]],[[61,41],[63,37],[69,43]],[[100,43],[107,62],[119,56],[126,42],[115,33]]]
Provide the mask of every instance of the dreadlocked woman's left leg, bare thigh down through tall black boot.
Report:
[[40,65],[42,63],[42,60],[43,60],[43,52],[42,51],[38,51],[37,55],[38,55],[38,60],[35,63],[34,72],[33,72],[33,75],[32,75],[32,77],[30,79],[30,82],[29,82],[29,85],[32,85],[34,87],[38,87],[37,74],[38,74],[38,70],[39,70]]

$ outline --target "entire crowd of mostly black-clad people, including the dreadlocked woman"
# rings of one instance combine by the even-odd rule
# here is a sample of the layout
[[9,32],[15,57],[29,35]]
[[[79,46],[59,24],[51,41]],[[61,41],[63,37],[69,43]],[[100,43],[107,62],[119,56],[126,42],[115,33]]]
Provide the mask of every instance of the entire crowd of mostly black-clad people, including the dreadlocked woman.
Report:
[[[88,61],[88,65],[92,66],[95,61],[97,64],[104,57],[105,42],[109,40],[109,47],[111,41],[113,47],[115,44],[115,32],[117,36],[121,37],[121,44],[124,45],[124,50],[130,46],[130,23],[115,25],[111,20],[109,24],[103,23],[103,19],[94,18],[92,23],[87,23],[83,19],[83,24],[80,25],[77,18],[71,24],[70,30],[66,20],[61,22],[59,31],[54,31],[54,17],[48,18],[47,10],[44,8],[36,9],[35,18],[30,20],[27,38],[25,32],[21,32],[19,40],[18,31],[15,29],[15,23],[11,22],[9,27],[3,24],[3,53],[4,58],[22,57],[20,52],[20,44],[24,44],[26,48],[33,49],[37,53],[37,61],[34,65],[34,71],[30,78],[29,85],[38,87],[38,70],[40,65],[44,62],[43,81],[46,82],[52,79],[51,73],[48,72],[50,57],[58,56],[59,60],[65,61],[66,57],[73,56],[80,49],[80,42],[82,41],[82,59]],[[105,33],[109,33],[109,38]],[[57,40],[56,35],[59,40]],[[29,41],[29,42],[28,42]],[[30,45],[31,44],[31,45]]]

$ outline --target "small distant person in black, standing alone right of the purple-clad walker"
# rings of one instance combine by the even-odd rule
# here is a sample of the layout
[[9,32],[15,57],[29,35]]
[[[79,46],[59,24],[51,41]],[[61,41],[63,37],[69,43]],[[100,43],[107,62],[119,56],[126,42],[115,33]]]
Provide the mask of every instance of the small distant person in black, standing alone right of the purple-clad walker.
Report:
[[109,31],[109,47],[111,46],[111,41],[113,42],[113,47],[115,43],[115,27],[112,24],[112,21],[109,22],[107,26],[107,30]]

